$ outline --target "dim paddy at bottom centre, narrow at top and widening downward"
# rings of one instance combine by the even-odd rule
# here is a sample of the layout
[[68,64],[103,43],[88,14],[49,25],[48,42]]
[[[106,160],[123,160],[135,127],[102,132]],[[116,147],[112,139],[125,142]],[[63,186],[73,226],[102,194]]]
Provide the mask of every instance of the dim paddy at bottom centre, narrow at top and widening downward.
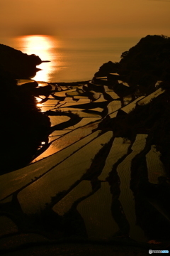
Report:
[[90,239],[111,238],[118,230],[111,214],[112,195],[107,182],[96,193],[81,201],[77,210],[84,218]]

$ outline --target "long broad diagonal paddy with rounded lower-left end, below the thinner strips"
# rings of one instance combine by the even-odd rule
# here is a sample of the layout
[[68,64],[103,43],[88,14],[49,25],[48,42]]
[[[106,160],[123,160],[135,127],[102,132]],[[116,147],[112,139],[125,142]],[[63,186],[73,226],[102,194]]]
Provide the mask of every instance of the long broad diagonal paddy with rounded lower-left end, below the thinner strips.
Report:
[[[45,207],[45,203],[50,203],[52,196],[56,196],[57,193],[66,191],[74,185],[89,169],[92,159],[101,149],[102,144],[107,143],[111,137],[112,132],[101,135],[19,192],[18,201],[21,203],[23,212],[36,213]],[[82,156],[83,159],[81,159]],[[26,196],[27,201],[25,200]]]

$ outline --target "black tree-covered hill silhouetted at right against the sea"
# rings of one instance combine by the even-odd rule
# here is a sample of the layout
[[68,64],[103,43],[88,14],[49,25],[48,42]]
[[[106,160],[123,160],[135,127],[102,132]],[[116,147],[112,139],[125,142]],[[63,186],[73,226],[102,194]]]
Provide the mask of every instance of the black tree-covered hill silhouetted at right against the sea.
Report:
[[170,38],[146,36],[121,55],[119,63],[104,63],[94,77],[118,73],[120,79],[144,92],[152,92],[157,80],[170,81]]

